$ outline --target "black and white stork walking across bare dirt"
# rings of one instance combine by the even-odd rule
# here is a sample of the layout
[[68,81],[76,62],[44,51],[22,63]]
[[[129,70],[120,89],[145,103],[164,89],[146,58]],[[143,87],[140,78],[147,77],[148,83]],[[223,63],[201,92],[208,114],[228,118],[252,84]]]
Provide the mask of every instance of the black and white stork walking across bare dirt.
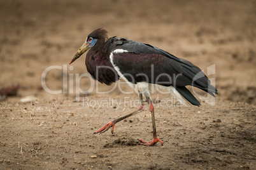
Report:
[[[153,125],[153,140],[141,141],[141,145],[154,145],[158,141],[155,128],[155,114],[152,99],[148,92],[148,86],[157,86],[167,89],[184,105],[191,103],[199,106],[199,101],[190,93],[186,86],[194,86],[214,96],[217,89],[210,84],[210,80],[196,65],[178,58],[166,51],[145,44],[132,41],[124,37],[111,37],[108,39],[105,29],[96,29],[87,36],[82,47],[75,54],[71,63],[89,50],[85,59],[88,72],[97,81],[110,85],[122,78],[132,88],[138,91],[140,107],[131,114],[124,115],[113,121],[95,133],[104,133],[111,129],[113,133],[117,122],[145,109],[143,95],[149,105]],[[153,68],[153,69],[152,69]]]

